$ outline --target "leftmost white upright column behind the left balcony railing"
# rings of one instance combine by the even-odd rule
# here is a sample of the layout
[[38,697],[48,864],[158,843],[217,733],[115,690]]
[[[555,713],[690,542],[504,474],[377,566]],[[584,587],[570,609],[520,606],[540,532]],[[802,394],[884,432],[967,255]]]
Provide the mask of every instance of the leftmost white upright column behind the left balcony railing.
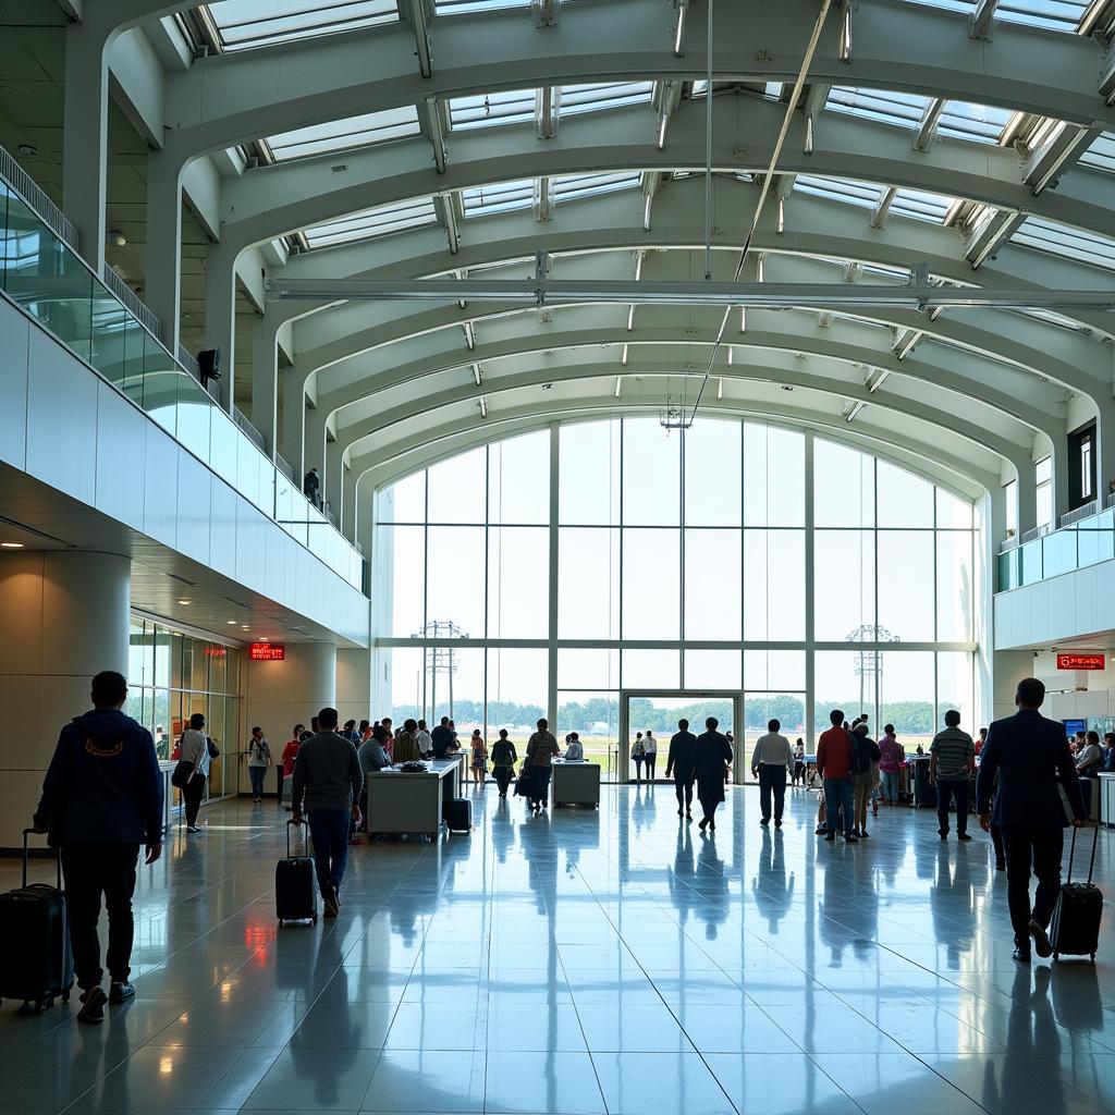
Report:
[[66,28],[62,211],[77,227],[81,255],[99,275],[108,196],[108,45],[115,33],[112,7],[90,7],[83,22]]

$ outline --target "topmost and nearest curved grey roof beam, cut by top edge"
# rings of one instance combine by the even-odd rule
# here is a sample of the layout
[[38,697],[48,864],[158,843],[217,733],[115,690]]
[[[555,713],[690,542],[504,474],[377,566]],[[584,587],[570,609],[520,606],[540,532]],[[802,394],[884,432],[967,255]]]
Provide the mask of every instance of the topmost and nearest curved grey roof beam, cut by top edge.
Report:
[[[174,7],[152,3],[151,9],[155,14]],[[166,147],[185,162],[261,135],[427,97],[647,77],[704,78],[704,10],[697,4],[690,9],[690,33],[680,58],[672,52],[670,6],[609,0],[571,4],[558,26],[544,31],[521,10],[439,20],[429,79],[420,77],[413,31],[401,25],[203,59],[167,78]],[[815,0],[720,6],[716,79],[793,80],[815,18]],[[812,80],[1115,125],[1115,108],[1097,94],[1102,49],[1082,36],[1000,23],[992,39],[973,40],[963,16],[875,3],[856,13],[855,49],[846,60],[838,38],[840,21],[830,20]]]

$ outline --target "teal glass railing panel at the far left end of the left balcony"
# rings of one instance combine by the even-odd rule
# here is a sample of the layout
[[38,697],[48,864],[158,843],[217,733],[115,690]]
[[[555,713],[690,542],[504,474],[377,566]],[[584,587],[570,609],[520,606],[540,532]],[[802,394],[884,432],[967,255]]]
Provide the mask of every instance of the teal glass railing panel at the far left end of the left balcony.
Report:
[[10,190],[6,210],[4,292],[88,361],[93,273]]

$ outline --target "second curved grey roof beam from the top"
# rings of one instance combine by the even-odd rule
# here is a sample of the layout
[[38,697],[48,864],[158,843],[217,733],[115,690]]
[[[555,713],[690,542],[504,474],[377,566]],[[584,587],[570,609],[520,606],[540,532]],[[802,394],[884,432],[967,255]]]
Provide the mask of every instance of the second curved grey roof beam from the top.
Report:
[[[689,104],[675,113],[680,126],[671,128],[662,149],[657,146],[653,118],[633,107],[571,117],[561,133],[544,144],[539,143],[532,126],[465,133],[454,139],[444,174],[434,166],[424,138],[350,152],[340,173],[333,169],[336,158],[261,167],[222,185],[222,246],[239,252],[375,206],[503,181],[589,171],[701,167],[702,107]],[[725,107],[727,110],[715,117],[714,169],[765,169],[785,106],[740,95],[735,112],[730,104]],[[779,172],[922,190],[986,202],[1000,210],[1031,212],[1115,236],[1111,183],[1102,172],[1080,171],[1066,178],[1061,188],[1035,196],[1021,182],[1018,158],[1010,148],[941,140],[928,152],[912,153],[904,130],[840,115],[816,129],[812,154],[805,154],[804,148],[805,122],[798,117],[783,149]]]

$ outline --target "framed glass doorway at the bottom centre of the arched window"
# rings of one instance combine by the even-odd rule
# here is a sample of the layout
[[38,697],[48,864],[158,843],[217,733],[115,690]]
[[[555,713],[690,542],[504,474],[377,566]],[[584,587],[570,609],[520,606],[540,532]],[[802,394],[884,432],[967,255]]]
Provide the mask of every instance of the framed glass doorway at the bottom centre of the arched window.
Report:
[[[705,731],[705,721],[709,717],[715,717],[719,721],[718,731],[730,734],[731,747],[735,750],[737,726],[744,723],[743,694],[739,690],[621,690],[618,780],[632,782],[636,776],[631,748],[639,733],[646,737],[650,731],[658,740],[655,778],[662,782],[666,778],[666,757],[670,737],[678,730],[678,720],[688,720],[689,730],[699,736]],[[738,760],[733,764],[733,772],[736,780],[740,780]]]

